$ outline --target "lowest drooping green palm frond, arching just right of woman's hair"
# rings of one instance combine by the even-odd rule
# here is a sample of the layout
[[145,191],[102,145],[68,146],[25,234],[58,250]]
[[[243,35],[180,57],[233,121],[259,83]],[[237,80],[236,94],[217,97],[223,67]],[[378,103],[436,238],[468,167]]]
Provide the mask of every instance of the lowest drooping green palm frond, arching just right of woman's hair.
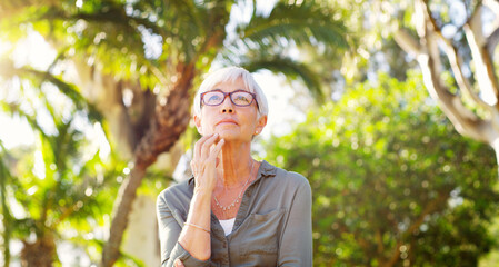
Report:
[[275,57],[269,59],[265,58],[251,60],[246,63],[241,63],[241,67],[246,68],[250,72],[267,69],[275,73],[283,73],[291,80],[299,78],[307,86],[316,101],[323,101],[323,91],[320,77],[302,62],[295,61],[290,58]]

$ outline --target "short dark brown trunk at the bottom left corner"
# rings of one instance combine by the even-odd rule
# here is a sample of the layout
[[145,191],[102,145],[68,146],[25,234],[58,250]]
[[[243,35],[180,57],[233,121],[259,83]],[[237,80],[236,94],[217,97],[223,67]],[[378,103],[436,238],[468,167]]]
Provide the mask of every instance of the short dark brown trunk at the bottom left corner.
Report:
[[22,267],[51,267],[57,258],[56,243],[51,237],[43,237],[30,244],[23,241],[21,250]]

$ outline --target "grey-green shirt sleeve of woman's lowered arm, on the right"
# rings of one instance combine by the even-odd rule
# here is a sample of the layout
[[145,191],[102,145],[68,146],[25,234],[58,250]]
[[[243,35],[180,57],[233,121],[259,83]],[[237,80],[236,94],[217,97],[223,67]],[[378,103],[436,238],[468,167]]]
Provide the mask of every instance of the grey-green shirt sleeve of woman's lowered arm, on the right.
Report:
[[279,243],[278,266],[312,266],[312,192],[300,179]]

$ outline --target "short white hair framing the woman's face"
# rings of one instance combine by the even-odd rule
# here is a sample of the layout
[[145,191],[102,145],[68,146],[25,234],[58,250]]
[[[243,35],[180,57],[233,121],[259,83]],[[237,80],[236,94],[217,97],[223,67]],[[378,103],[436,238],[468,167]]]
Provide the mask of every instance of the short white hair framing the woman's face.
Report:
[[241,67],[227,67],[219,69],[210,73],[199,87],[198,92],[194,96],[193,111],[194,115],[199,116],[201,113],[201,93],[213,89],[217,83],[236,81],[238,78],[242,78],[244,86],[248,90],[257,95],[258,102],[258,118],[261,116],[267,116],[269,113],[269,105],[267,103],[267,98],[261,88],[255,81],[251,73]]

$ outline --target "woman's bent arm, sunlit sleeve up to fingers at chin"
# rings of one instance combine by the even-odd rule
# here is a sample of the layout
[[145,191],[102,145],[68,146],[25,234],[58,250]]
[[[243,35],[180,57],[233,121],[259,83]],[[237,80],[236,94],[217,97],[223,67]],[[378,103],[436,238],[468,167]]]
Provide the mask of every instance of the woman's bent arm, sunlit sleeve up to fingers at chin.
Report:
[[167,254],[164,259],[168,259],[163,266],[171,266],[177,259],[189,266],[190,256],[193,258],[191,260],[193,264],[206,265],[208,263],[203,261],[211,256],[211,195],[217,179],[217,156],[224,144],[222,139],[214,145],[217,138],[218,135],[202,137],[194,146],[191,167],[196,187],[186,225],[180,227],[168,205],[158,200],[161,253]]

